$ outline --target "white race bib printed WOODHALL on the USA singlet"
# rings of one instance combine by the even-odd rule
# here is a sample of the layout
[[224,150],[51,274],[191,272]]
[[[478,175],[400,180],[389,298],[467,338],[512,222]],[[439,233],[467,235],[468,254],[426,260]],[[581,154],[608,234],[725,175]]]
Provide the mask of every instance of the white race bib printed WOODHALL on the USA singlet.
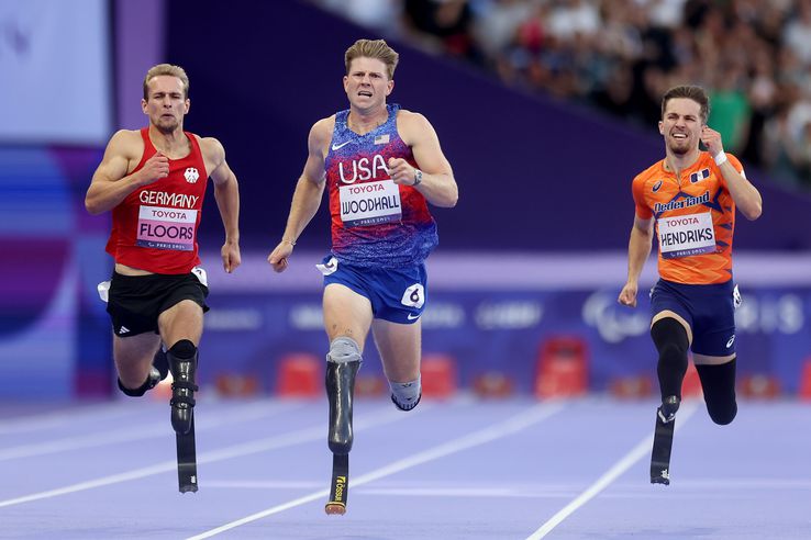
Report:
[[400,187],[393,180],[342,185],[338,199],[341,221],[347,227],[399,222],[402,218]]

